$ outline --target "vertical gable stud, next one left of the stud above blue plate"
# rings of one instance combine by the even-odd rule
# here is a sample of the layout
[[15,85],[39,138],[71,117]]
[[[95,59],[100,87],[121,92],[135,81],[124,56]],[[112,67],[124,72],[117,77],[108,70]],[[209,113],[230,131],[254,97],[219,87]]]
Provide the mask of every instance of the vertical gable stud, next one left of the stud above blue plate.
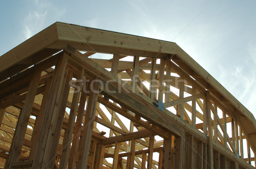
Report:
[[156,88],[155,88],[155,81],[156,81],[156,65],[157,59],[153,59],[151,61],[151,71],[150,71],[150,82],[149,82],[149,96],[151,99],[154,100],[156,95]]

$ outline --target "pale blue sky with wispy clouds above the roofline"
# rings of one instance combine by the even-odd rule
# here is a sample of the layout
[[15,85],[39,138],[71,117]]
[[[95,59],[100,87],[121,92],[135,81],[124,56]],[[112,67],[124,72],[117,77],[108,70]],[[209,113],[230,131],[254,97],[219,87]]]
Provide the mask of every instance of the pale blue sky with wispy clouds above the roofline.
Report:
[[56,21],[172,41],[256,116],[255,6],[255,0],[1,0],[0,56]]

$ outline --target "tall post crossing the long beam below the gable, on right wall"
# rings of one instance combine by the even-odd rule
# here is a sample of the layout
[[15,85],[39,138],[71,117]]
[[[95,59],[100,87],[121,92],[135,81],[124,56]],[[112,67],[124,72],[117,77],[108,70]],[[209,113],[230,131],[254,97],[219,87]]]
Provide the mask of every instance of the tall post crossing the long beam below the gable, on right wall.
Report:
[[208,146],[209,146],[209,166],[213,167],[213,150],[212,150],[212,118],[211,118],[211,109],[210,109],[210,93],[206,91],[206,100],[207,100],[207,124],[208,124]]

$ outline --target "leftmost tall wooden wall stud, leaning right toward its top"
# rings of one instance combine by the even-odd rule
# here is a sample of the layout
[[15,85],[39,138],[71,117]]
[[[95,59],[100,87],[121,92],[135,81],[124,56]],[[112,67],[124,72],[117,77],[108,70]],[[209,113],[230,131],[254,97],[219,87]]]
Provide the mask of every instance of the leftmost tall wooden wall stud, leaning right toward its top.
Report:
[[6,160],[6,169],[11,169],[12,164],[19,162],[20,153],[23,146],[27,125],[29,123],[30,114],[38,88],[38,83],[41,77],[41,71],[35,70],[32,80],[30,81],[28,92],[22,111],[20,112],[15,133],[12,139],[12,145],[9,150],[9,157]]

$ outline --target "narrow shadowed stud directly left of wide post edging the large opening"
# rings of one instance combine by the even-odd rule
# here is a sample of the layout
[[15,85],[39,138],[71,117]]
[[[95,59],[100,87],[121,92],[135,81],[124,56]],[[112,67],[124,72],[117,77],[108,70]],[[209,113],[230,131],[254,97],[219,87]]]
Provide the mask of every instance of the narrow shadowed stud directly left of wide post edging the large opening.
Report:
[[[88,91],[89,83],[83,84],[83,88]],[[81,92],[81,98],[80,98],[80,103],[79,103],[79,108],[77,112],[77,120],[76,120],[76,125],[74,129],[74,137],[72,141],[72,147],[70,150],[70,161],[68,163],[68,169],[74,169],[75,164],[76,164],[76,153],[78,150],[78,145],[79,145],[79,138],[81,134],[81,126],[82,126],[82,121],[83,121],[83,116],[84,116],[84,107],[86,103],[86,98],[87,98],[87,93],[82,91]]]

